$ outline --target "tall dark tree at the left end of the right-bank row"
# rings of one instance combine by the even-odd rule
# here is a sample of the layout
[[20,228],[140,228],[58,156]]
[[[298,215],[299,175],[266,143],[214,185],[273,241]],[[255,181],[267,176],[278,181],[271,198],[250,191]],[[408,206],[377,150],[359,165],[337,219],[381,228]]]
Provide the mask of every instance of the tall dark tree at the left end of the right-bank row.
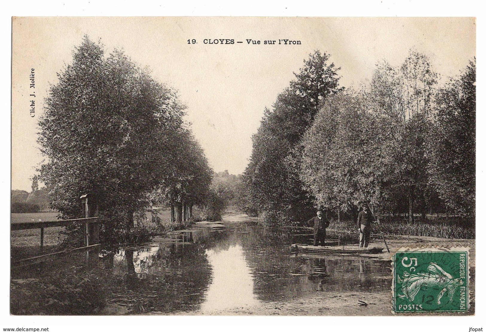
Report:
[[[339,91],[337,71],[328,64],[330,55],[315,51],[281,92],[273,110],[265,109],[243,181],[246,208],[265,212],[265,224],[292,224],[307,218],[312,201],[303,190],[295,163],[289,157],[304,131],[312,124],[319,106]],[[294,158],[295,159],[295,158]],[[283,219],[275,216],[283,212]]]

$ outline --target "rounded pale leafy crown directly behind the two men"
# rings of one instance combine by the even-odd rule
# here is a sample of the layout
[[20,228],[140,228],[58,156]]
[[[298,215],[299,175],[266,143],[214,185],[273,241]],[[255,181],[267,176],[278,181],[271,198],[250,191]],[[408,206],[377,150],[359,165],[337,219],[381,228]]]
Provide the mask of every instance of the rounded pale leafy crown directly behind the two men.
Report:
[[365,197],[380,201],[384,161],[376,153],[383,141],[377,121],[359,93],[340,92],[325,102],[300,144],[300,178],[317,205],[356,212]]

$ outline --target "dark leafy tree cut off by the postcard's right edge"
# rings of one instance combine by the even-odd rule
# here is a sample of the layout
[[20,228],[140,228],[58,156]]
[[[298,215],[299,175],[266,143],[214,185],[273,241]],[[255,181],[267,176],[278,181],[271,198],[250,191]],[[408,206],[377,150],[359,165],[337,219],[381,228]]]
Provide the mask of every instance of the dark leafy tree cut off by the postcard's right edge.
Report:
[[475,215],[476,61],[437,93],[435,123],[428,140],[430,184],[447,205]]

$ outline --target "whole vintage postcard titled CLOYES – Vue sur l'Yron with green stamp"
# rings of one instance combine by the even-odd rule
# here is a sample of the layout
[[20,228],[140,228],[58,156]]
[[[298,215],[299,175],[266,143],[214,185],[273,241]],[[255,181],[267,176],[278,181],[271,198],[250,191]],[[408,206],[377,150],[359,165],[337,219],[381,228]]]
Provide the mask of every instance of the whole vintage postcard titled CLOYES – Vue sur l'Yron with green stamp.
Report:
[[11,315],[475,314],[475,18],[12,29]]

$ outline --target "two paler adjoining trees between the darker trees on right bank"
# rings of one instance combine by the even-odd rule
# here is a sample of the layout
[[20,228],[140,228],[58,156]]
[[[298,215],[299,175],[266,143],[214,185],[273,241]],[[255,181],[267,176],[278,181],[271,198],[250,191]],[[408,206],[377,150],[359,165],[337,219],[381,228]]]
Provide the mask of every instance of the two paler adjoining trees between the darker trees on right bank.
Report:
[[377,65],[361,91],[328,98],[297,163],[316,203],[356,214],[368,200],[382,212],[408,209],[410,221],[416,206],[430,206],[436,195],[428,186],[425,142],[436,77],[428,58],[411,51],[398,68]]

